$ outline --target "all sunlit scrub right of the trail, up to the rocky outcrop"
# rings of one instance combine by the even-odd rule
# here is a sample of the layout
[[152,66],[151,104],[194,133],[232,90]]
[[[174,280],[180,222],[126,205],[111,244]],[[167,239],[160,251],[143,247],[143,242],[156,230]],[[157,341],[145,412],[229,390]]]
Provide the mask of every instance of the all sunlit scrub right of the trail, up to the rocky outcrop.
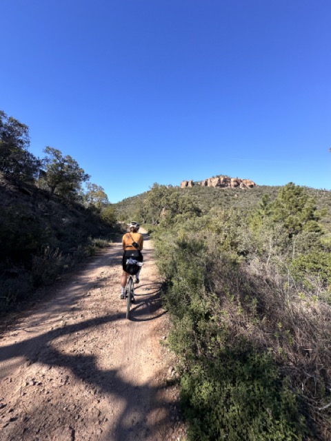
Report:
[[156,244],[192,440],[331,439],[331,192],[155,184],[117,205]]

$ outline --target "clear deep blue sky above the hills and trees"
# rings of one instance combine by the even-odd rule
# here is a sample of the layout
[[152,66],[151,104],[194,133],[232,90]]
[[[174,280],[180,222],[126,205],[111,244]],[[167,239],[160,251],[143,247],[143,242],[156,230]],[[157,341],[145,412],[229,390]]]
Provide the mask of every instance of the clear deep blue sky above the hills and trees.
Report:
[[2,0],[0,109],[111,202],[215,174],[331,189],[330,0]]

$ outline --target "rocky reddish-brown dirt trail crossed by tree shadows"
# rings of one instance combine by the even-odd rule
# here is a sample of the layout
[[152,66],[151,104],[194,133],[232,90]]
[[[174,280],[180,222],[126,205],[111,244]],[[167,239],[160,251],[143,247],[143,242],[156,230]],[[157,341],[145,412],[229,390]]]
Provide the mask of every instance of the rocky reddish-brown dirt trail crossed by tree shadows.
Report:
[[171,361],[160,339],[168,319],[144,236],[130,321],[115,243],[3,334],[1,441],[184,439],[177,388],[165,387]]

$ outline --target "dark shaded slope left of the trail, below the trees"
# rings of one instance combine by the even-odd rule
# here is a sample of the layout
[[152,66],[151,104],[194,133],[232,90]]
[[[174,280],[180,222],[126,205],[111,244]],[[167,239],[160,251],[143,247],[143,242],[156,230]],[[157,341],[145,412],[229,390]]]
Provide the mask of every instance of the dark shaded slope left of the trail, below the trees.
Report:
[[0,219],[0,310],[52,283],[63,268],[93,251],[93,238],[112,232],[97,212],[3,177]]

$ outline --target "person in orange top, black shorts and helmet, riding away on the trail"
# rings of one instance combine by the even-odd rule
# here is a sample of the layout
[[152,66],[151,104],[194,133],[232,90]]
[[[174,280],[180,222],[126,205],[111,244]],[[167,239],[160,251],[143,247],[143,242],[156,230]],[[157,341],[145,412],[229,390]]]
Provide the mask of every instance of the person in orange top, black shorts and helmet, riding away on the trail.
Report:
[[[135,220],[129,224],[130,232],[124,234],[122,239],[123,244],[123,258],[122,258],[122,267],[123,274],[121,276],[121,298],[126,298],[126,282],[128,280],[128,273],[126,272],[126,260],[128,257],[135,254],[134,260],[138,262],[143,261],[143,255],[141,254],[141,250],[143,249],[143,235],[139,233],[139,223]],[[134,253],[132,253],[135,250]],[[136,283],[139,283],[139,274],[141,271],[141,267],[136,274]]]

